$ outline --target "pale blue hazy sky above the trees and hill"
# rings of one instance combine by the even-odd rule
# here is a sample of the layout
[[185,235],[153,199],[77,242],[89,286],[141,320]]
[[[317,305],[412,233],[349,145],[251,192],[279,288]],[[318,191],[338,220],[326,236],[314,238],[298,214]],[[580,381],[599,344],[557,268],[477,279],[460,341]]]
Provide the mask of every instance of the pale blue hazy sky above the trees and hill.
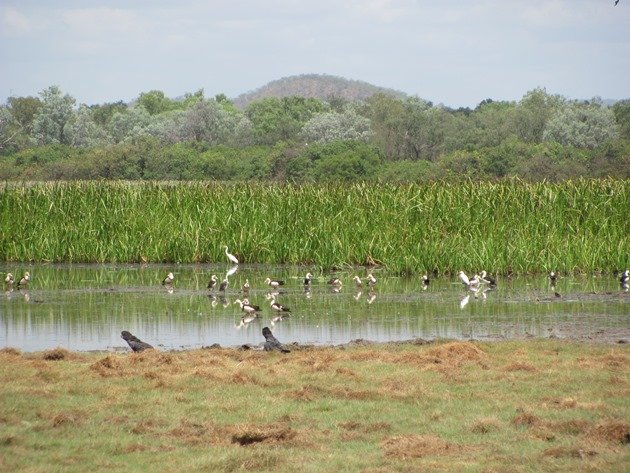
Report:
[[0,0],[0,103],[235,98],[299,74],[451,107],[630,98],[630,0]]

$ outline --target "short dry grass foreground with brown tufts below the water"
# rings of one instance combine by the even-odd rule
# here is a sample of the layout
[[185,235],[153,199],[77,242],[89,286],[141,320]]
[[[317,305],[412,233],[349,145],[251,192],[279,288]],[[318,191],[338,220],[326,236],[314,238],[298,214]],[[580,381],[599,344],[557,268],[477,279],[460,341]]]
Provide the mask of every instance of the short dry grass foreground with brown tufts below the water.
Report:
[[628,471],[630,349],[0,350],[2,471]]

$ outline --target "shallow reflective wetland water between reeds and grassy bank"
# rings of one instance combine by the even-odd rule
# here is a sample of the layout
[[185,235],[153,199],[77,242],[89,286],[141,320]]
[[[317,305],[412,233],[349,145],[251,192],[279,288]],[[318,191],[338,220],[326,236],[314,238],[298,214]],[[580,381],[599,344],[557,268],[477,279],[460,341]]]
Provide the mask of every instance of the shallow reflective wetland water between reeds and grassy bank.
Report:
[[[352,276],[363,268],[334,273],[344,284],[334,292],[316,274],[311,290],[302,285],[309,268],[241,265],[229,276],[222,297],[206,289],[211,274],[223,279],[226,265],[25,265],[3,263],[0,272],[20,277],[30,271],[27,290],[0,298],[0,347],[37,351],[127,349],[129,330],[163,349],[259,344],[261,329],[272,328],[284,343],[341,344],[356,339],[509,339],[558,337],[615,341],[630,336],[630,294],[613,276],[566,277],[555,289],[545,276],[499,279],[495,290],[467,291],[456,278],[432,280],[374,271],[376,289],[356,289]],[[175,273],[172,288],[161,285]],[[314,271],[311,271],[315,273]],[[284,279],[277,300],[292,313],[273,321],[267,277]],[[242,324],[240,291],[262,307],[257,320]],[[6,287],[5,287],[6,289]],[[560,293],[556,297],[554,292]],[[612,337],[612,338],[611,338]]]

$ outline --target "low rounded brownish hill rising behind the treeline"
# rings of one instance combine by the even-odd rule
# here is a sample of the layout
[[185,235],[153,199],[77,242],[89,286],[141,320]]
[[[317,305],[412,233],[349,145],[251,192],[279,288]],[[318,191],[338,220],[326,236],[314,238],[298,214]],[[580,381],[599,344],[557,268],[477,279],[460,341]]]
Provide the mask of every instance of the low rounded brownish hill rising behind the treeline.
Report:
[[360,80],[349,80],[343,77],[327,74],[302,74],[299,76],[283,77],[269,82],[267,85],[234,99],[234,104],[245,108],[250,102],[266,97],[312,97],[327,100],[330,97],[346,99],[350,102],[364,100],[376,93],[390,94],[395,97],[406,97],[404,92],[376,85]]

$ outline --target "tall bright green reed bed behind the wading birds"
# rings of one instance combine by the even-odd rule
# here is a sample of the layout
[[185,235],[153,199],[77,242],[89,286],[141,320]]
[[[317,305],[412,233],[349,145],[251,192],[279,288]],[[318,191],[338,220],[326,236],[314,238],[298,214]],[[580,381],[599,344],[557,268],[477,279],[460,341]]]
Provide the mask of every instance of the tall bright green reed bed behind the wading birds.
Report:
[[7,183],[0,259],[217,262],[398,273],[630,266],[630,181]]

